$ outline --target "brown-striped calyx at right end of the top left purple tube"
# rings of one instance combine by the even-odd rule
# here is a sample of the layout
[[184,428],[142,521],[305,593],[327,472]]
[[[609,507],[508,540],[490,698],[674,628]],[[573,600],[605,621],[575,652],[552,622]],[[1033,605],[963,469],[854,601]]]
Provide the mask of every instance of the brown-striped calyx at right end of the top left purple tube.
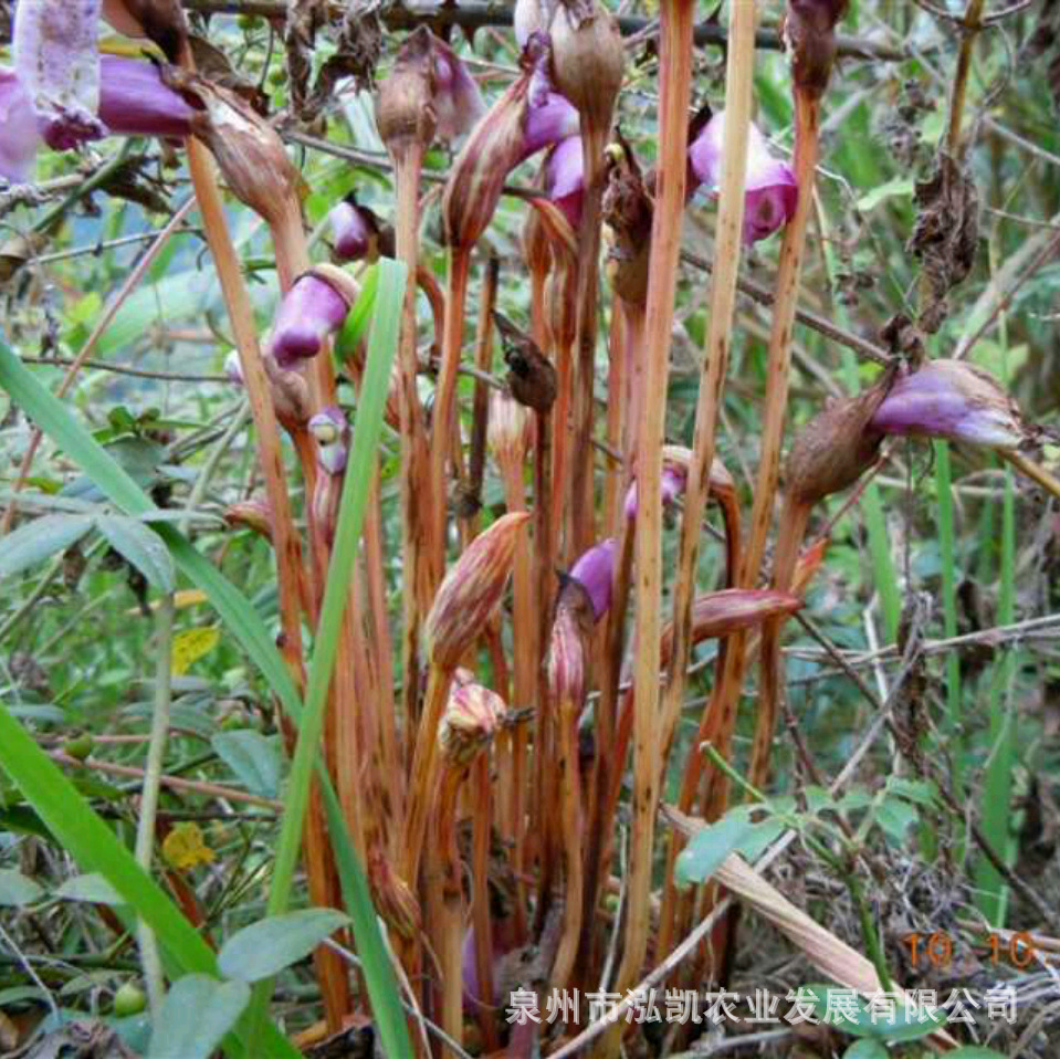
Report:
[[269,224],[283,223],[298,203],[301,177],[280,134],[234,92],[197,74],[167,67],[162,80],[201,107],[191,130],[213,153],[232,193]]

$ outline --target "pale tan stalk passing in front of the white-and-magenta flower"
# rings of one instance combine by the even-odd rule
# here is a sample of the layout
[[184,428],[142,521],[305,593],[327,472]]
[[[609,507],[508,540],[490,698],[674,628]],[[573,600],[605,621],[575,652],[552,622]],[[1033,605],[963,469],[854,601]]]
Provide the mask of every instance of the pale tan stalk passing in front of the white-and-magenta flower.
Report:
[[[721,198],[717,213],[717,235],[715,238],[715,261],[711,284],[710,328],[703,352],[700,395],[695,412],[695,433],[692,462],[684,495],[684,515],[681,520],[678,574],[673,588],[673,650],[667,673],[668,685],[663,705],[664,731],[672,732],[676,725],[684,699],[685,673],[689,665],[692,631],[692,599],[695,593],[695,569],[699,558],[700,527],[706,507],[711,468],[714,461],[714,439],[717,430],[722,389],[728,370],[728,354],[732,346],[733,319],[736,307],[736,280],[739,272],[741,243],[744,222],[744,184],[747,172],[747,137],[751,127],[752,76],[755,57],[755,4],[753,0],[734,3],[730,28],[731,48],[725,73],[725,126],[722,150]],[[730,507],[732,511],[732,506]],[[733,538],[733,515],[726,518],[726,532],[735,539],[738,548],[738,522]],[[735,512],[738,520],[738,508]],[[730,577],[738,576],[730,570]],[[723,648],[718,657],[715,689],[724,679],[725,667],[731,652]],[[712,702],[712,705],[714,703]],[[709,709],[710,712],[710,709]],[[728,725],[720,728],[716,738],[727,754],[732,735],[732,715]],[[693,752],[693,756],[699,754]],[[665,757],[659,762],[664,769]],[[661,776],[660,776],[661,782]],[[685,794],[690,794],[690,784],[685,784]],[[674,891],[673,864],[681,843],[675,832],[670,835],[668,851],[668,871],[663,889],[663,910],[672,912],[676,894]],[[670,915],[661,918],[662,936],[669,944]],[[662,948],[661,951],[665,951]]]

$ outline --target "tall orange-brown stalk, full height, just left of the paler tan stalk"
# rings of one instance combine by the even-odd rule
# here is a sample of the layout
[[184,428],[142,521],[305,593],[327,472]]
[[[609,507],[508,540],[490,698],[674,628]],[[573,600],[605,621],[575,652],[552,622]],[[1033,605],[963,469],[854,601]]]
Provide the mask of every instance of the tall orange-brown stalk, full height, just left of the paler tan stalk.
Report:
[[[743,4],[737,3],[736,10]],[[644,407],[637,447],[636,606],[637,662],[633,686],[633,818],[628,879],[626,948],[617,988],[640,977],[648,948],[652,836],[659,794],[658,722],[662,609],[662,443],[665,427],[670,335],[681,252],[688,168],[689,99],[692,86],[692,0],[662,6],[659,144],[655,210],[651,231],[644,370]],[[618,1053],[621,1031],[609,1037],[605,1053]]]

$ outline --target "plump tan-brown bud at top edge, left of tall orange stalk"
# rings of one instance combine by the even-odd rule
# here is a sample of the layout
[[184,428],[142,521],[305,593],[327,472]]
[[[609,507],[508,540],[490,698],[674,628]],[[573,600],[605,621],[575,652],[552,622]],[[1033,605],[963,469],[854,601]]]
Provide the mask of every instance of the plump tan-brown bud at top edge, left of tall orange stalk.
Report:
[[606,135],[626,65],[618,23],[596,0],[560,0],[549,32],[556,87]]

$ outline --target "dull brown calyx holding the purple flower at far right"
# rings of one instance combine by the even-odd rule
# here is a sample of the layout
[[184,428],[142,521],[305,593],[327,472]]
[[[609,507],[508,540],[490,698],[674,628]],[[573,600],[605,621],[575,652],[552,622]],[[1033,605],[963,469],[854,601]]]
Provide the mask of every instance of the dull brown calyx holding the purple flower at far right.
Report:
[[890,385],[888,373],[864,392],[832,401],[799,431],[784,471],[791,501],[816,504],[853,485],[872,465],[883,439],[872,417]]

